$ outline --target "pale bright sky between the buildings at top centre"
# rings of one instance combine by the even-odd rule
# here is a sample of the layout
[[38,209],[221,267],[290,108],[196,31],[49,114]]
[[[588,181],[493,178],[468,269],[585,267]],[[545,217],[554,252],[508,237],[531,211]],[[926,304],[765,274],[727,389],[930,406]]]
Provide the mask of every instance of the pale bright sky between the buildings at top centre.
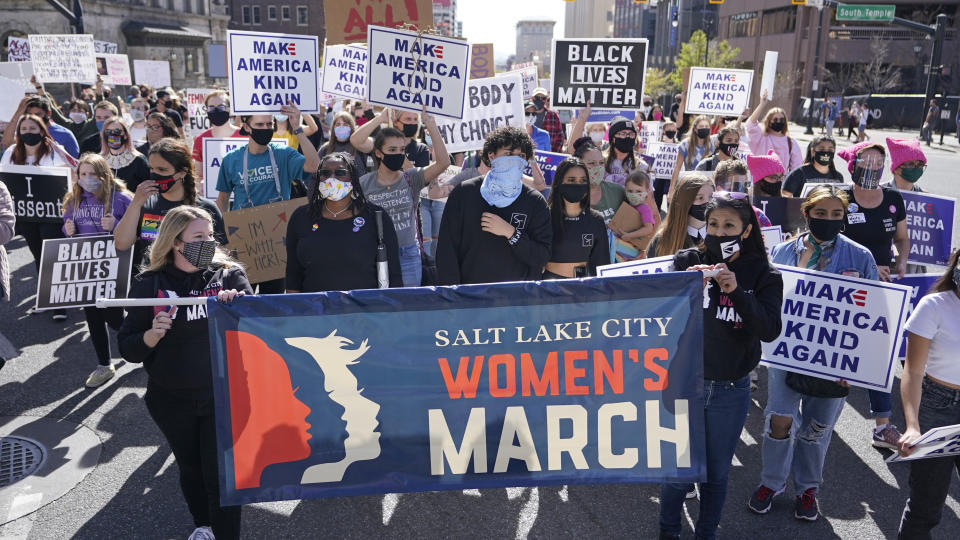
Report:
[[563,37],[566,3],[561,0],[460,0],[457,20],[463,21],[463,37],[470,43],[493,43],[498,61],[517,48],[517,21],[552,19],[553,37]]

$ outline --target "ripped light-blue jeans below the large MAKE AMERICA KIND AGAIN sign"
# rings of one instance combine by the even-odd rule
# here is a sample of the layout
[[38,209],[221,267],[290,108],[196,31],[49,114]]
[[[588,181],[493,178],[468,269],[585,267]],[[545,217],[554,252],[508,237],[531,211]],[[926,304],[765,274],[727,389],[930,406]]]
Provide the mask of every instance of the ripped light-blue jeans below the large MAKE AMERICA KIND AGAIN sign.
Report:
[[[787,386],[786,371],[771,367],[767,368],[767,392],[760,482],[774,491],[782,491],[792,471],[797,494],[810,488],[819,493],[823,461],[846,398],[801,394]],[[793,418],[786,439],[770,436],[770,417],[774,414]]]

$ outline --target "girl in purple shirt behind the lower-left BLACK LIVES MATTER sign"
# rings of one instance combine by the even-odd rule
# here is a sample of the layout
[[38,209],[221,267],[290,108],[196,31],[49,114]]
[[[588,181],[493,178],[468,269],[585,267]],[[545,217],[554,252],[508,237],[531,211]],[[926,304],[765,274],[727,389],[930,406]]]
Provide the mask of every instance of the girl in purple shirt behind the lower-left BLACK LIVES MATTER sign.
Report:
[[[77,164],[77,182],[63,198],[63,232],[67,236],[109,235],[123,217],[132,194],[110,172],[107,160],[96,154],[84,154]],[[120,329],[123,308],[83,308],[87,331],[97,353],[99,366],[87,377],[87,388],[96,388],[116,374],[110,363],[110,336],[107,326]]]

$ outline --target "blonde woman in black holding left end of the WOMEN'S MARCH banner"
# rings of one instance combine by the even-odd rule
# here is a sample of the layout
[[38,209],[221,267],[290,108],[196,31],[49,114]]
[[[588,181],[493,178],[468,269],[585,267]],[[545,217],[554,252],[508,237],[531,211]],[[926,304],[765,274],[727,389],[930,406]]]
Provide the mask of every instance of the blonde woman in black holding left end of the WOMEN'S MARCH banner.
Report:
[[[186,147],[184,154],[189,160]],[[204,209],[170,210],[130,298],[215,296],[230,302],[251,294],[243,268],[217,248],[214,234]],[[129,308],[117,335],[120,354],[147,370],[143,401],[177,460],[180,489],[196,527],[190,538],[236,539],[240,507],[220,506],[207,313],[202,305],[179,311],[162,305]]]

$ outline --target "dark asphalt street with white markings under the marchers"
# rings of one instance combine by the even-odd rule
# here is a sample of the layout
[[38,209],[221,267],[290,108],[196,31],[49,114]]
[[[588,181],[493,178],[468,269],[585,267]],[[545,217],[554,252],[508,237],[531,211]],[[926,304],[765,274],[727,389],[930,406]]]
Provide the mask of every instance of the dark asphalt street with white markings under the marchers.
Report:
[[[882,141],[883,133],[872,134]],[[960,196],[955,141],[928,152],[930,166],[921,180],[927,190]],[[27,315],[36,287],[33,262],[21,239],[7,248],[14,298],[0,304],[0,328],[23,354],[0,371],[0,416],[84,424],[100,437],[103,452],[96,469],[72,491],[0,526],[0,538],[185,538],[193,527],[170,450],[142,403],[145,372],[121,365],[109,384],[84,388],[96,360],[82,312],[70,311],[65,323],[45,314]],[[870,446],[873,422],[864,390],[851,393],[836,427],[824,471],[821,518],[813,523],[794,519],[791,487],[770,514],[747,510],[760,477],[764,379],[761,375],[730,473],[721,538],[895,536],[907,497],[908,466],[888,466]],[[897,387],[894,410],[895,422],[903,426]],[[960,537],[958,501],[960,482],[955,481],[935,538]],[[698,503],[688,502],[686,508],[690,523]],[[555,486],[256,504],[244,509],[243,527],[246,538],[655,538],[657,510],[654,485]],[[684,537],[691,536],[685,529]]]

